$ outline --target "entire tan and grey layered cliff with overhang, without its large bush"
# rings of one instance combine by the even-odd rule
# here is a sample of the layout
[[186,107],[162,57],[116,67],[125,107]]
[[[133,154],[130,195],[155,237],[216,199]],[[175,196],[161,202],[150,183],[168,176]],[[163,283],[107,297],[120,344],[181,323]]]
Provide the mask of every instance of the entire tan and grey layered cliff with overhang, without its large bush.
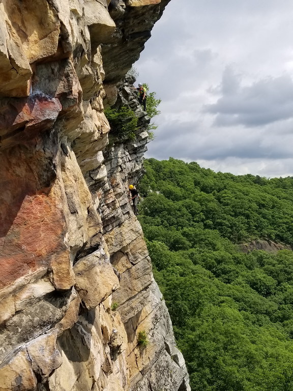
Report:
[[[189,389],[127,199],[148,118],[120,82],[167,3],[0,1],[1,391]],[[118,92],[140,130],[107,146]]]

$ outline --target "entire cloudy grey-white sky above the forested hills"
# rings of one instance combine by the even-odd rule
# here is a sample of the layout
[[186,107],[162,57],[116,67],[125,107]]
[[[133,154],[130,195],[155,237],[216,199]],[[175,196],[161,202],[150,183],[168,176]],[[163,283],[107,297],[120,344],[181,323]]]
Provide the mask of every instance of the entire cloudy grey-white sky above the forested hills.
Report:
[[290,0],[171,0],[135,67],[162,99],[148,157],[293,176]]

